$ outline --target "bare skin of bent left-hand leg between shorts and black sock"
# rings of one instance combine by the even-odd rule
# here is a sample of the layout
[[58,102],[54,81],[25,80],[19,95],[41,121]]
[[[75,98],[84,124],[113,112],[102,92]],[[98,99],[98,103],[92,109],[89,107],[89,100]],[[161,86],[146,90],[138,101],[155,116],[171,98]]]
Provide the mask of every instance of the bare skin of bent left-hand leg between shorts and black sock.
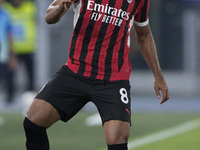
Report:
[[35,99],[27,112],[27,118],[39,126],[48,128],[60,120],[60,115],[50,103]]

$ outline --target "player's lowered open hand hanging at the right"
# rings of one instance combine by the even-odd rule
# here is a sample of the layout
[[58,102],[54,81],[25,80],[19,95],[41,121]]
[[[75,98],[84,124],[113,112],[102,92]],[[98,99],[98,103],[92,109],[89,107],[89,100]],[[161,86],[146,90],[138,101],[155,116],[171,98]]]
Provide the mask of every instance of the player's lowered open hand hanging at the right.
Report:
[[169,90],[167,87],[167,84],[164,80],[164,78],[156,78],[154,81],[154,89],[156,92],[156,96],[158,98],[161,97],[160,91],[162,92],[162,100],[160,101],[160,104],[163,104],[169,99]]

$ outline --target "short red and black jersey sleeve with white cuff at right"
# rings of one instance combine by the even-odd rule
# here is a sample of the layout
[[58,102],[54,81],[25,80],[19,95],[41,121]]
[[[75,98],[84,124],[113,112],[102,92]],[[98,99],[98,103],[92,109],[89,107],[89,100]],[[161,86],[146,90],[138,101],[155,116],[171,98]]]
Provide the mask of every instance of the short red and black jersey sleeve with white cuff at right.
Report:
[[134,23],[138,26],[146,26],[149,23],[149,7],[150,7],[150,0],[144,0],[142,5],[139,7],[138,13],[135,15]]

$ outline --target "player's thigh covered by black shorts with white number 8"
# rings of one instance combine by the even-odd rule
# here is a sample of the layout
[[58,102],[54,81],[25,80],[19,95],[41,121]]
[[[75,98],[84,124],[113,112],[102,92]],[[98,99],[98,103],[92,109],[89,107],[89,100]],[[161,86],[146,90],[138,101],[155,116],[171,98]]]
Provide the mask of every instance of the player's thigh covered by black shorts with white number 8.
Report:
[[97,86],[92,101],[97,106],[103,124],[109,120],[131,123],[129,81],[114,81]]

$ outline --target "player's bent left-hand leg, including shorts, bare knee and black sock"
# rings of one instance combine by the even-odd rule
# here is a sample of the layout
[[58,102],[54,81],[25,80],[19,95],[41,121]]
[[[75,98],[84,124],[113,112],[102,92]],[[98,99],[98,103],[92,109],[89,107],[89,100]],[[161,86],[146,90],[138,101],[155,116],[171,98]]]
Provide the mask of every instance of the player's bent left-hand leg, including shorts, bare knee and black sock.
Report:
[[68,71],[62,67],[30,106],[24,121],[28,150],[48,150],[46,128],[58,120],[67,122],[89,101],[85,83]]

